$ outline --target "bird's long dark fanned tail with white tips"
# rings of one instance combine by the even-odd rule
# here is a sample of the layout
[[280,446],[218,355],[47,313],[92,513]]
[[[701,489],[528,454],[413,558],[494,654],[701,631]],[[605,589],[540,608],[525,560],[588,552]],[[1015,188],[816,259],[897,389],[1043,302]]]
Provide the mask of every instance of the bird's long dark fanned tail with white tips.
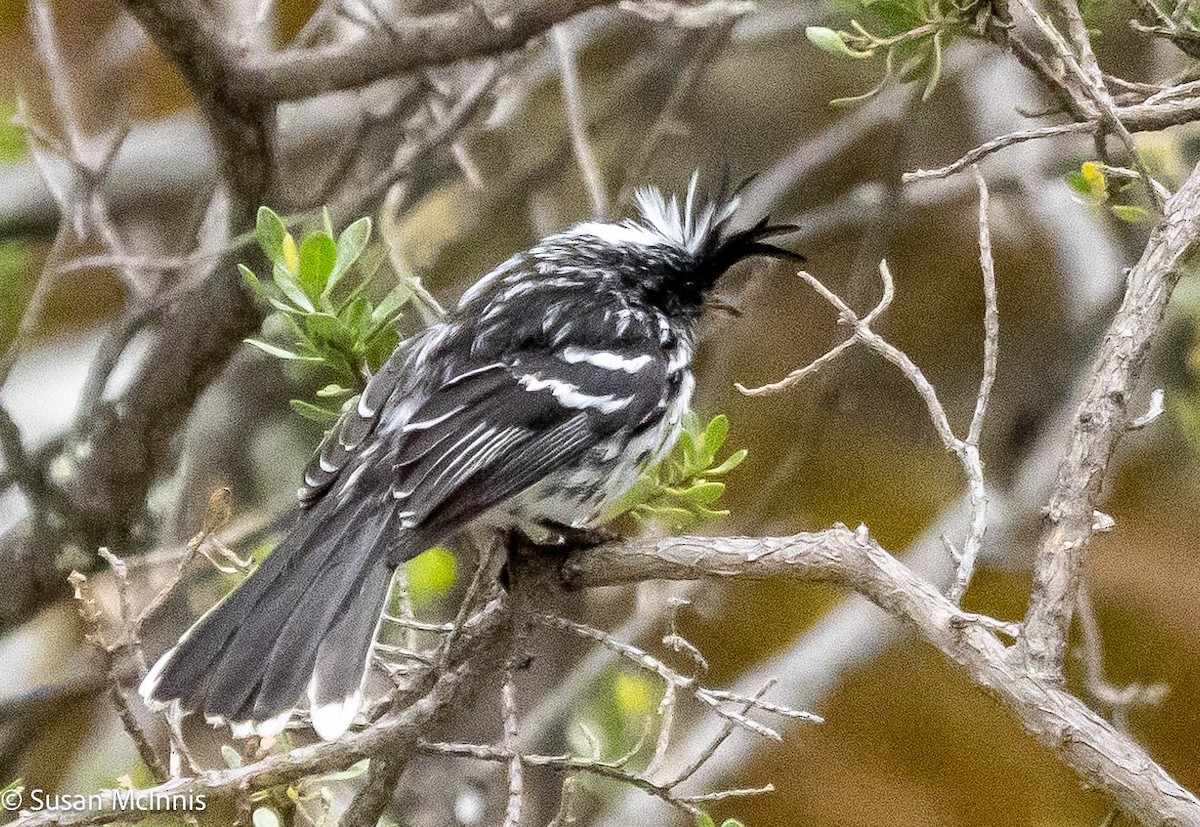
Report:
[[142,696],[179,701],[240,737],[277,735],[307,689],[318,735],[342,735],[388,598],[392,523],[328,497],[158,659]]

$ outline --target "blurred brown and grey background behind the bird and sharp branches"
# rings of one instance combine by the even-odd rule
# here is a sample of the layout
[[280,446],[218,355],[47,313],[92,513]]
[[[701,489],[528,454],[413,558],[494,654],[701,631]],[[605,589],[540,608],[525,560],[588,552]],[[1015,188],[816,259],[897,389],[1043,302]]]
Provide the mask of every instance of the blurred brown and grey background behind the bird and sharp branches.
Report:
[[[229,31],[242,32],[235,40],[250,50],[296,37],[349,37],[389,16],[440,8],[422,0],[208,5]],[[806,26],[846,26],[850,14],[838,4],[758,0],[752,7],[707,4],[688,13],[664,4],[624,5],[642,7],[594,10],[560,26],[557,50],[540,38],[503,59],[478,110],[376,193],[365,194],[362,181],[391,163],[413,134],[443,122],[497,64],[468,61],[284,104],[269,205],[312,228],[319,221],[313,210],[324,203],[338,227],[372,216],[378,252],[371,254],[388,266],[370,290],[385,294],[400,272],[419,277],[449,305],[542,234],[598,211],[626,215],[636,185],[680,191],[694,169],[706,179],[756,175],[746,191],[748,212],[769,210],[776,221],[798,223],[785,242],[804,252],[808,269],[856,307],[877,300],[877,265],[887,258],[898,293],[878,329],[924,370],[965,429],[983,342],[977,193],[967,174],[914,184],[901,184],[900,175],[1040,124],[1027,115],[1054,102],[1037,79],[1000,47],[955,38],[946,44],[941,80],[928,100],[922,101],[926,68],[914,73],[916,82],[894,80],[868,101],[830,106],[883,76],[880,56],[839,58],[805,38]],[[329,6],[342,12],[331,14]],[[158,353],[161,340],[148,332],[169,332],[172,298],[198,288],[188,282],[187,266],[168,265],[197,248],[211,211],[216,162],[187,84],[119,5],[50,4],[65,70],[59,78],[47,72],[36,47],[36,8],[0,0],[5,347],[36,284],[46,284],[36,326],[0,388],[0,402],[26,454],[54,480],[70,475],[71,462],[88,449],[79,435],[95,417],[125,415],[122,392],[143,360]],[[1190,66],[1169,43],[1134,31],[1128,4],[1110,0],[1087,11],[1106,71],[1159,80]],[[313,23],[314,14],[324,19]],[[577,64],[575,100],[564,95],[564,60]],[[104,158],[106,148],[122,138],[100,186],[108,226],[126,251],[122,260],[113,260],[113,247],[96,232],[66,244],[59,235],[61,222],[72,220],[60,210],[72,203],[70,192],[62,194],[64,181],[78,180],[70,161],[50,151],[53,139],[65,137],[65,104],[85,138],[85,154]],[[590,154],[588,160],[583,152],[582,166],[572,118]],[[1183,126],[1139,140],[1156,174],[1174,185],[1195,162],[1196,137],[1194,126]],[[1000,372],[984,435],[994,521],[966,604],[1004,619],[1024,615],[1039,509],[1061,457],[1063,424],[1123,271],[1148,232],[1069,186],[1068,174],[1093,156],[1090,139],[1061,137],[1013,146],[983,164],[994,197]],[[589,164],[599,191],[589,191],[581,173]],[[234,260],[257,266],[256,254],[245,246],[245,258]],[[235,284],[230,274],[224,284],[203,289]],[[787,534],[862,522],[923,574],[944,580],[950,561],[940,538],[961,535],[964,480],[907,380],[874,354],[852,349],[797,388],[745,397],[734,382],[778,379],[840,342],[845,330],[782,264],[742,265],[720,294],[737,312],[706,319],[695,407],[706,419],[726,414],[727,451],[746,448],[749,457],[727,479],[721,504],[730,515],[690,531]],[[167,296],[166,314],[131,334],[128,318],[156,296]],[[1168,415],[1123,443],[1105,507],[1116,527],[1093,541],[1086,573],[1104,677],[1169,688],[1157,706],[1117,709],[1120,723],[1192,790],[1200,789],[1198,312],[1200,290],[1188,276],[1134,404],[1145,404],[1148,389],[1165,388]],[[277,334],[271,324],[268,337]],[[410,305],[401,335],[421,324],[420,308]],[[112,364],[97,370],[98,359]],[[96,531],[80,539],[53,525],[30,533],[44,514],[31,510],[19,474],[6,466],[5,541],[11,549],[36,543],[36,556],[52,559],[59,576],[40,587],[28,611],[7,617],[0,639],[0,785],[19,778],[30,787],[83,792],[144,775],[65,586],[72,568],[95,570],[97,599],[112,604],[112,577],[97,570],[95,545],[108,543],[128,559],[134,597],[144,604],[154,593],[148,583],[161,583],[174,565],[155,563],[155,555],[205,527],[214,492],[229,490],[224,537],[240,555],[269,547],[280,515],[286,519],[322,432],[288,400],[312,398],[328,378],[245,346],[218,367],[182,427],[164,441],[163,455],[154,457],[144,508],[139,504],[120,533]],[[86,538],[98,541],[88,546]],[[20,565],[11,549],[0,555],[6,568]],[[422,565],[410,573],[419,615],[452,617],[469,559]],[[23,582],[17,574],[10,580]],[[233,582],[193,561],[182,588],[146,627],[148,653],[156,657]],[[752,693],[775,677],[772,699],[827,721],[790,726],[779,744],[744,733],[731,738],[697,775],[702,790],[770,781],[775,792],[715,805],[718,823],[736,816],[751,827],[1098,825],[1109,811],[1103,797],[1082,789],[998,703],[881,611],[842,591],[650,583],[587,594],[575,611],[653,648],[668,630],[666,606],[673,598],[690,600],[674,622],[707,657],[709,684]],[[1080,646],[1086,642],[1080,635]],[[587,647],[544,654],[522,687],[524,735],[534,747],[577,747],[581,725],[600,733],[606,753],[636,742],[658,703],[655,682]],[[1088,675],[1080,659],[1068,669],[1073,689],[1112,714],[1098,690],[1102,676]],[[718,725],[696,717],[678,727],[680,745],[695,747]],[[200,725],[194,737],[210,766],[222,766],[216,736]],[[448,766],[461,773],[452,785],[442,775]],[[392,815],[406,825],[499,823],[498,780],[492,767],[422,760],[409,769]],[[557,785],[546,780],[528,823],[553,815]],[[588,784],[583,802],[582,823],[683,821],[660,802],[614,785]],[[283,816],[314,822],[302,808]]]

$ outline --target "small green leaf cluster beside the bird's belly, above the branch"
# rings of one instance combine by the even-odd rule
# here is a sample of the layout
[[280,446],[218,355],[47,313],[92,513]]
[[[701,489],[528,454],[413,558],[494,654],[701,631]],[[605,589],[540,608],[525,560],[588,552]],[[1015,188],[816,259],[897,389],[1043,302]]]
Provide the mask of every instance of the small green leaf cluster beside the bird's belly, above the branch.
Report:
[[672,532],[690,528],[701,520],[726,516],[727,510],[714,508],[725,493],[725,484],[716,478],[725,477],[746,459],[743,448],[716,461],[728,433],[730,420],[724,414],[701,423],[689,410],[671,456],[642,474],[618,501],[614,515],[628,515],[638,526],[656,522]]

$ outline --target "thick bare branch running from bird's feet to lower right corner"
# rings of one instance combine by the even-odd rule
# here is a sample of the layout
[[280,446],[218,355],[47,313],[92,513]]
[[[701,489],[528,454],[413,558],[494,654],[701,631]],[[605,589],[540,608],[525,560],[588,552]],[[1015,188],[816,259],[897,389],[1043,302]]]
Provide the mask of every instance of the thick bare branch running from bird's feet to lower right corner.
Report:
[[562,571],[572,586],[701,577],[791,577],[848,586],[912,625],[1122,810],[1146,825],[1200,825],[1200,801],[1141,747],[1013,658],[991,624],[977,623],[862,532],[836,527],[787,538],[671,538],[600,546],[570,555]]

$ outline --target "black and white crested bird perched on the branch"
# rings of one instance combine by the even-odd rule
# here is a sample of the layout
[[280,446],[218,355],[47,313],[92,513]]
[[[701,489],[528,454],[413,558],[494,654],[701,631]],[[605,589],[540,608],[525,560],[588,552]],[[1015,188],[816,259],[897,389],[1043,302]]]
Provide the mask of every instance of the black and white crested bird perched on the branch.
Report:
[[451,535],[595,527],[671,450],[692,392],[692,326],[751,256],[800,259],[734,230],[737,194],[700,206],[637,193],[641,216],[586,222],[517,253],[406,342],[305,472],[298,525],[150,670],[234,736],[350,725],[394,569]]

